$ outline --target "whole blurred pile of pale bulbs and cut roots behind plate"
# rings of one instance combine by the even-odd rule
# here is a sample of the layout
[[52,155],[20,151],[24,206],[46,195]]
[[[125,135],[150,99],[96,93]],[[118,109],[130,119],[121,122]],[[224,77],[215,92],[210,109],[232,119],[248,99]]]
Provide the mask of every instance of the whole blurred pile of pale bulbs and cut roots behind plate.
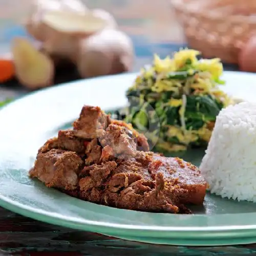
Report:
[[[48,86],[54,73],[53,66],[61,66],[63,62],[75,65],[82,78],[131,70],[134,57],[132,40],[118,30],[116,20],[109,12],[89,10],[80,0],[34,1],[26,28],[41,42],[40,51],[36,54],[32,48],[30,51],[28,46],[20,43],[13,47],[17,77],[25,86]],[[23,56],[20,49],[23,47],[30,51],[30,57],[24,57],[24,65],[20,61],[20,56]],[[38,60],[38,65],[32,67],[32,59]],[[48,68],[46,63],[49,63]],[[36,75],[36,70],[30,75],[29,70],[36,67],[45,69],[46,74]],[[35,82],[36,76],[39,77],[38,82]]]

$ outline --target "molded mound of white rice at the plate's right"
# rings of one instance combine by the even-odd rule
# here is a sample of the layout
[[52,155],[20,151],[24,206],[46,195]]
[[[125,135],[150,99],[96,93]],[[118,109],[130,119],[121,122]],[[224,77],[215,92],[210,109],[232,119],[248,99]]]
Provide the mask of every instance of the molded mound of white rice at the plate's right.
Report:
[[211,193],[256,202],[256,104],[223,109],[202,160]]

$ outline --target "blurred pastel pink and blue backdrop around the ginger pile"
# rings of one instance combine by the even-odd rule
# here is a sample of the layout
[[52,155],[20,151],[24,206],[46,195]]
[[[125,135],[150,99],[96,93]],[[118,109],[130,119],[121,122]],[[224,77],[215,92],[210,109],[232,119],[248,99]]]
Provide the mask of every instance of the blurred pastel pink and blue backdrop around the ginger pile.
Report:
[[[0,0],[0,54],[10,51],[15,36],[28,36],[23,26],[33,0]],[[151,61],[153,53],[162,57],[184,46],[185,38],[169,0],[82,0],[89,8],[104,9],[115,17],[120,30],[135,44],[134,70]]]

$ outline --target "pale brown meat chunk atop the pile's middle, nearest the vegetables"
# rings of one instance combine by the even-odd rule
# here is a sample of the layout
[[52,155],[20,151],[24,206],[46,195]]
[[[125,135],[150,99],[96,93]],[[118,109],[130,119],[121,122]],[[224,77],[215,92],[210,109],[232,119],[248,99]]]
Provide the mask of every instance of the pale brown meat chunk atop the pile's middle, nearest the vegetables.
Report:
[[124,126],[110,124],[103,135],[99,138],[100,144],[110,146],[114,156],[135,156],[136,143],[132,137],[132,132]]

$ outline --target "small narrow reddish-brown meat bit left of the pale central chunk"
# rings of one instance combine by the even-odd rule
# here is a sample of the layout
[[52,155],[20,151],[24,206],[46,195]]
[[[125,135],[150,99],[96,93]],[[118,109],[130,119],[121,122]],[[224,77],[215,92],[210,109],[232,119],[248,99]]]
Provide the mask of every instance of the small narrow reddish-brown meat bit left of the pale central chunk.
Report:
[[86,165],[99,163],[101,158],[101,146],[98,145],[98,140],[93,139],[86,147]]

